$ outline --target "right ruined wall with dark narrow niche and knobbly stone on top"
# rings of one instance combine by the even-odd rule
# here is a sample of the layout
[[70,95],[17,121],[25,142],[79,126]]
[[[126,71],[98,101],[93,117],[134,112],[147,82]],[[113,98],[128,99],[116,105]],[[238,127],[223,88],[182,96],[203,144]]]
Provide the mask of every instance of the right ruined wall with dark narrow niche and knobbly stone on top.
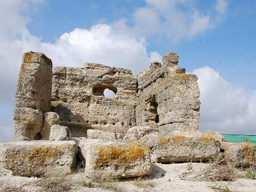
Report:
[[179,68],[179,56],[165,53],[163,67],[152,62],[138,73],[138,126],[155,125],[168,129],[198,129],[200,92],[197,76]]

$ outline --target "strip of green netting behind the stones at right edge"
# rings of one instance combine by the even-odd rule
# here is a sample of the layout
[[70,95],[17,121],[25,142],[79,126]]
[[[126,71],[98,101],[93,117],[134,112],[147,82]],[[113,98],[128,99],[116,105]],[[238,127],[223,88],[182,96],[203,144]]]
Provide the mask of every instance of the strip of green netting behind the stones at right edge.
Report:
[[[244,135],[244,134],[222,134],[228,142],[241,143],[245,140],[250,141],[256,145],[256,135]],[[255,151],[256,155],[256,151]]]

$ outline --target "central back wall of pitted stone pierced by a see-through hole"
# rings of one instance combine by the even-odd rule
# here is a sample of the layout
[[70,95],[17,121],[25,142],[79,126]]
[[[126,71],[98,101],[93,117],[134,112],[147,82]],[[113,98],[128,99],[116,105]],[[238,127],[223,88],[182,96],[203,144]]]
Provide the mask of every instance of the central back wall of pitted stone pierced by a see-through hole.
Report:
[[[87,129],[124,135],[136,126],[136,78],[130,70],[86,63],[84,68],[56,67],[52,80],[52,110],[73,137],[85,137]],[[116,93],[103,95],[104,89]]]

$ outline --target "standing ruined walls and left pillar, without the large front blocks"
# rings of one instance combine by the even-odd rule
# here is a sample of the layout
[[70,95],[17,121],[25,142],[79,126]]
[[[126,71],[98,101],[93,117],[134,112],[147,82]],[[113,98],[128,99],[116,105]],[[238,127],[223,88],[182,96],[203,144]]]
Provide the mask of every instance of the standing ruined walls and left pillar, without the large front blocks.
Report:
[[[129,128],[145,125],[197,130],[197,77],[178,62],[176,53],[165,53],[163,66],[152,62],[136,79],[131,70],[95,63],[56,67],[52,73],[50,59],[27,52],[16,90],[14,139],[48,140],[53,124],[69,127],[72,137],[87,137],[88,129],[123,137]],[[115,97],[105,97],[105,89]]]

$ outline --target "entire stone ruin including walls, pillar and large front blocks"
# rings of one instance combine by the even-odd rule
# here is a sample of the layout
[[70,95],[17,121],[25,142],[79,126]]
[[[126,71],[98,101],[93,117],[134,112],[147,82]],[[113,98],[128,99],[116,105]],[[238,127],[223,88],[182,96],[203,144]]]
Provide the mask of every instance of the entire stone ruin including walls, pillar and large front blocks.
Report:
[[[198,131],[197,76],[165,53],[137,78],[131,70],[85,63],[55,67],[27,52],[13,112],[14,141],[0,143],[0,163],[14,175],[95,173],[147,175],[153,162],[210,161],[225,153],[237,166],[254,161],[255,146],[228,143],[218,132]],[[104,96],[104,90],[115,93]]]

